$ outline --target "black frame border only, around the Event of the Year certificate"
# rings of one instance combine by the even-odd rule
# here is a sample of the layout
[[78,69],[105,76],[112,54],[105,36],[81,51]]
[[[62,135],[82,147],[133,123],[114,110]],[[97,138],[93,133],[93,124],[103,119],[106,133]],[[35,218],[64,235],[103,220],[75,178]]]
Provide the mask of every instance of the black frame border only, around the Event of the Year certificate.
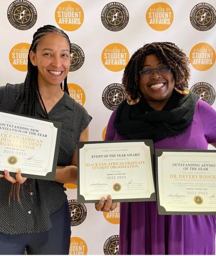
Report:
[[146,146],[149,146],[150,148],[150,156],[151,156],[151,169],[152,169],[152,175],[153,175],[153,183],[154,183],[154,191],[150,198],[129,198],[129,199],[112,199],[112,202],[141,202],[141,201],[156,201],[156,186],[155,186],[155,173],[154,173],[154,144],[153,140],[146,139],[146,140],[107,140],[107,141],[82,141],[78,143],[78,188],[77,188],[77,201],[79,203],[98,203],[99,200],[87,200],[84,198],[83,195],[80,193],[80,149],[85,144],[106,144],[106,143],[130,143],[130,142],[143,142]]

